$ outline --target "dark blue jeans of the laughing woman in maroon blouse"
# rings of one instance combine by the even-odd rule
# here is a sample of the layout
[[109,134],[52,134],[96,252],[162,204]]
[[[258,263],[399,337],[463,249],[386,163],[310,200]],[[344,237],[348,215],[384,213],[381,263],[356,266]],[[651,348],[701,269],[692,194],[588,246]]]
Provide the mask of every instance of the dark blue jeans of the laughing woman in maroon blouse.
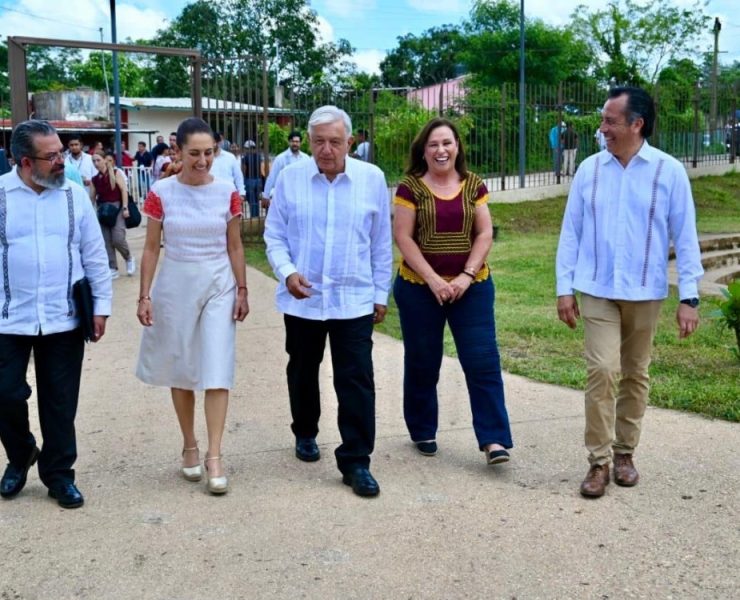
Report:
[[511,448],[491,278],[472,284],[460,300],[442,306],[428,286],[400,276],[393,285],[393,295],[401,318],[403,414],[411,439],[433,440],[437,434],[437,382],[447,322],[465,373],[478,447],[482,450],[487,444],[501,444]]

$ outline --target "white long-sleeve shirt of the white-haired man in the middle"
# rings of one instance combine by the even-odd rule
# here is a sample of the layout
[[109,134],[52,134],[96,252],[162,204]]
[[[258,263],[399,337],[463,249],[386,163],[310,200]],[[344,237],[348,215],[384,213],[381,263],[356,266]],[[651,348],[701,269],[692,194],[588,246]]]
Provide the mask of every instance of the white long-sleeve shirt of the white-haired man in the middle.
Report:
[[[267,257],[280,279],[280,312],[313,320],[354,319],[388,304],[393,261],[390,198],[383,172],[347,158],[334,181],[316,162],[283,169],[265,223]],[[300,273],[309,298],[293,298],[286,278]]]

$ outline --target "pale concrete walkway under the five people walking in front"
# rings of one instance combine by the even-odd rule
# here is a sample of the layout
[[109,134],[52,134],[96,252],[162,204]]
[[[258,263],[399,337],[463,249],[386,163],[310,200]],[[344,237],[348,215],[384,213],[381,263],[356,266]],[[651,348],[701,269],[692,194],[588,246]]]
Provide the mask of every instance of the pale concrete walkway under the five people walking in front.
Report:
[[[130,236],[137,256],[142,237]],[[294,458],[275,283],[250,270],[249,285],[224,443],[229,493],[178,475],[168,390],[133,376],[138,278],[121,278],[108,332],[85,357],[76,466],[86,504],[60,509],[35,470],[0,502],[0,599],[737,597],[737,424],[649,409],[642,481],[588,501],[580,392],[506,376],[516,448],[489,468],[459,365],[445,359],[440,452],[426,458],[403,423],[402,345],[376,335],[382,492],[361,499],[333,460],[328,360],[322,460]]]

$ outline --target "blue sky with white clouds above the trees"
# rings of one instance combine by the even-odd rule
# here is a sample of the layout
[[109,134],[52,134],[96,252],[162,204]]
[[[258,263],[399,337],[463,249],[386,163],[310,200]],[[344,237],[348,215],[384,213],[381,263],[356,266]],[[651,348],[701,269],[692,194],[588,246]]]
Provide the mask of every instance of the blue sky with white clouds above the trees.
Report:
[[[673,0],[688,7],[693,0]],[[117,0],[118,37],[151,36],[167,19],[177,16],[187,0]],[[562,25],[579,4],[602,6],[588,0],[525,0],[525,13],[553,25]],[[377,71],[385,53],[398,36],[420,34],[430,27],[458,24],[470,0],[313,0],[325,39],[348,39],[357,49],[355,61],[362,70]],[[0,0],[0,37],[23,35],[49,38],[99,40],[103,28],[110,41],[108,0],[74,0],[74,10],[50,12],[49,0]],[[722,21],[720,61],[740,61],[740,10],[738,0],[710,0],[707,13]],[[711,32],[703,45],[710,49]]]

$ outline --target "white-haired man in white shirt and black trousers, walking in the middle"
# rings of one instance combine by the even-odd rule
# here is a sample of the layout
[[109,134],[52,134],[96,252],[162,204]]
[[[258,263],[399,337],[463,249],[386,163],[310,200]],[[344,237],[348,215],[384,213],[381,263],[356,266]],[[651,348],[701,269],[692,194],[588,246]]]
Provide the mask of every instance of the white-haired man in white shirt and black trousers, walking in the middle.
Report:
[[319,365],[331,346],[343,482],[376,496],[373,324],[385,318],[391,282],[390,202],[383,173],[348,158],[352,123],[324,106],[309,119],[313,160],[283,169],[267,215],[267,256],[280,279],[296,456],[319,459]]

